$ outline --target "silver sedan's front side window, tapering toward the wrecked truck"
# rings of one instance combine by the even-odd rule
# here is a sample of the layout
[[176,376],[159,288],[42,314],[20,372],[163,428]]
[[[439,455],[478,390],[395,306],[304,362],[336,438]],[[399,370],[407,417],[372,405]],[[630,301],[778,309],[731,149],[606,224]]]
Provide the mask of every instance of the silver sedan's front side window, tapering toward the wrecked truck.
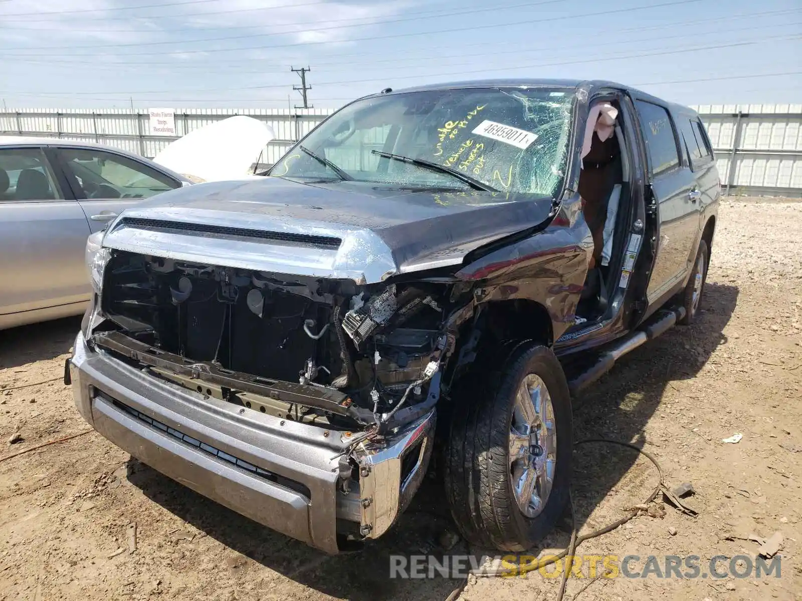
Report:
[[83,148],[59,152],[85,198],[148,198],[179,185],[144,163],[111,152]]

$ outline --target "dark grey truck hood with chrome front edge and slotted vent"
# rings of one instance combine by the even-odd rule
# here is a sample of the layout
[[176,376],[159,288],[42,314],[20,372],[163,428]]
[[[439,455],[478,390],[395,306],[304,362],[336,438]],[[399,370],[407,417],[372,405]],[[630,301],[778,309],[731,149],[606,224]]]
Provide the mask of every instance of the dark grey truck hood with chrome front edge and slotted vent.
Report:
[[460,264],[475,248],[536,227],[552,212],[550,197],[264,177],[165,192],[124,212],[103,245],[371,283]]

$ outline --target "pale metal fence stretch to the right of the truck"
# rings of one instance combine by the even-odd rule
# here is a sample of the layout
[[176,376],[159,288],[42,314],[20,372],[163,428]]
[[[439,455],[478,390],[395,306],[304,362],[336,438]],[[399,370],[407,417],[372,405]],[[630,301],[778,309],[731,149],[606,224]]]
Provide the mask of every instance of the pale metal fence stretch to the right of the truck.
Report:
[[725,190],[802,196],[802,104],[694,108],[707,126]]

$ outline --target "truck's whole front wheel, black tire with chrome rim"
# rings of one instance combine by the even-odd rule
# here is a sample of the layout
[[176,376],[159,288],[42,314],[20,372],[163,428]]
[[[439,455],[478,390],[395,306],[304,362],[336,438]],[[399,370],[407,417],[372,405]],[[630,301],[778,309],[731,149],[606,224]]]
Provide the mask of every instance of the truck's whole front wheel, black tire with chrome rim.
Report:
[[471,543],[526,551],[569,499],[573,426],[560,362],[524,343],[455,401],[444,470],[454,520]]

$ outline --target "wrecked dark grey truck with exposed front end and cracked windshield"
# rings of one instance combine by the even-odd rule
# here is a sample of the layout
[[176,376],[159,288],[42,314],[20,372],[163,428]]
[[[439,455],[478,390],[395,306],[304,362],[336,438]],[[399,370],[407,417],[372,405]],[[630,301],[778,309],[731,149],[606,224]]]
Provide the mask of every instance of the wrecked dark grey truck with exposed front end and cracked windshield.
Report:
[[433,454],[466,538],[532,547],[568,499],[571,393],[699,312],[698,115],[607,82],[387,90],[265,175],[89,240],[80,413],[324,551],[386,532]]

